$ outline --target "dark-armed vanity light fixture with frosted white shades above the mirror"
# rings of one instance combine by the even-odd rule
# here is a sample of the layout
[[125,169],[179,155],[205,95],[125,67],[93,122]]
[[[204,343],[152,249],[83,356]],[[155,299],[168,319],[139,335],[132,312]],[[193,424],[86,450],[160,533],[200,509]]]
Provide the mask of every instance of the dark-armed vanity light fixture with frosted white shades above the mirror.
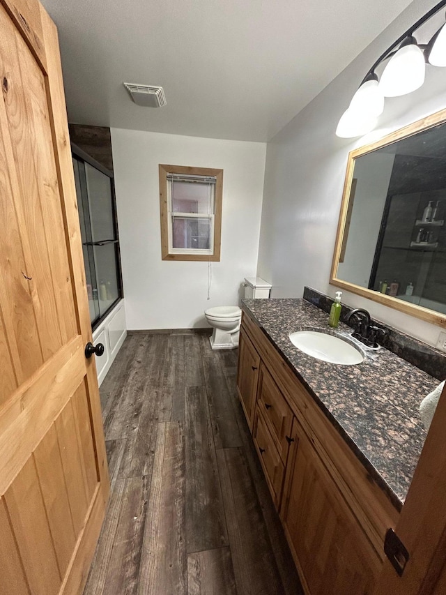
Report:
[[[427,44],[417,43],[413,36],[444,6],[446,0],[436,4],[378,58],[342,114],[336,129],[338,137],[353,138],[373,130],[378,116],[383,113],[385,97],[406,95],[422,86],[426,62],[433,66],[446,66],[446,24]],[[376,70],[386,61],[378,80]]]

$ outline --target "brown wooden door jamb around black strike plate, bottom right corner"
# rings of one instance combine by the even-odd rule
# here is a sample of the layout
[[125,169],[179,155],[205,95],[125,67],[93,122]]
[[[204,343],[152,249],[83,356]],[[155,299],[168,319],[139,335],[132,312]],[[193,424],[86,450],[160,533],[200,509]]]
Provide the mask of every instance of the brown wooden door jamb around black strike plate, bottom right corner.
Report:
[[446,592],[446,387],[437,405],[406,502],[392,527],[409,554],[400,576],[388,559],[376,595]]

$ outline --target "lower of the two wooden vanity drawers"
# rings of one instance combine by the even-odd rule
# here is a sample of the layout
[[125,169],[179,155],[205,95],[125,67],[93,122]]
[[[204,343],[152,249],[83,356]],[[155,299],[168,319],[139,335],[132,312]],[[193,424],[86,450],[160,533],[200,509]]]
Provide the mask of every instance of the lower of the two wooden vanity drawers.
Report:
[[259,454],[263,472],[266,475],[272,499],[276,508],[278,508],[284,483],[284,464],[258,408],[256,409],[254,444]]

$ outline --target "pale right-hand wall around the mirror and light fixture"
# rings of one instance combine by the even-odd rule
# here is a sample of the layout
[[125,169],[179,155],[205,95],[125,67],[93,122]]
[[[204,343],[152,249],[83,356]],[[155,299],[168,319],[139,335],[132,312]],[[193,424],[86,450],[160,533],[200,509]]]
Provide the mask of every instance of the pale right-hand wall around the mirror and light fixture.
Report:
[[[380,128],[367,137],[335,136],[337,122],[367,70],[433,3],[415,0],[302,112],[268,143],[257,274],[272,297],[302,296],[304,285],[334,296],[329,284],[348,151],[446,107],[446,68],[426,69],[421,89],[386,99]],[[344,292],[351,306],[434,345],[438,326]]]

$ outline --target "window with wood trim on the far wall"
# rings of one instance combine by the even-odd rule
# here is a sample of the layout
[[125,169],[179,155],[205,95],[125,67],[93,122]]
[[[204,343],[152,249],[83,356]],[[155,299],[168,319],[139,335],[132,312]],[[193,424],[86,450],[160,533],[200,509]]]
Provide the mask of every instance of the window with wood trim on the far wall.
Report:
[[163,260],[220,261],[223,170],[160,165]]

